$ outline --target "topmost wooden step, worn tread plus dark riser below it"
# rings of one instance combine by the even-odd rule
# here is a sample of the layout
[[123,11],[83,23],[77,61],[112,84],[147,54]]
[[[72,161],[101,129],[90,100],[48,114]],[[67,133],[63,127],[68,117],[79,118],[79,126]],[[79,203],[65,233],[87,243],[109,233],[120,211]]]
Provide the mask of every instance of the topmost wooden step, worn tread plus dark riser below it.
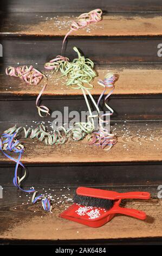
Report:
[[[45,63],[61,54],[63,36],[68,32],[73,17],[72,14],[58,14],[50,13],[49,17],[41,13],[2,16],[1,62]],[[161,14],[103,15],[102,21],[69,36],[66,56],[75,58],[73,47],[76,46],[96,63],[161,63],[158,57],[161,19]],[[68,25],[64,29],[62,24],[66,21]]]

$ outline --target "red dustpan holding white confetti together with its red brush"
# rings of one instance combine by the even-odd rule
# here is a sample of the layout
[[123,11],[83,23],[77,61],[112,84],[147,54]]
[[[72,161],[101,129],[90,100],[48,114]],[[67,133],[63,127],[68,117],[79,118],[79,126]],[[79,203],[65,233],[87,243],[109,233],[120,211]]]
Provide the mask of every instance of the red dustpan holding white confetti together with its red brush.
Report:
[[[148,192],[126,192],[118,193],[115,191],[99,190],[96,188],[78,187],[76,190],[77,199],[86,202],[87,206],[77,204],[74,199],[74,204],[70,206],[67,210],[60,214],[60,217],[66,218],[70,221],[79,222],[89,227],[98,228],[106,224],[115,214],[122,214],[138,218],[139,220],[145,220],[146,214],[143,211],[129,208],[120,207],[122,199],[150,199],[150,193]],[[116,198],[116,199],[115,199]],[[117,199],[118,198],[118,199]],[[95,199],[95,204],[94,204]],[[112,200],[112,204],[109,209],[104,209],[101,207],[96,207],[96,205],[101,205],[101,200],[106,202]],[[89,206],[88,206],[89,202]],[[93,206],[90,204],[93,203]],[[95,206],[94,206],[95,205]],[[106,204],[105,204],[106,205]]]

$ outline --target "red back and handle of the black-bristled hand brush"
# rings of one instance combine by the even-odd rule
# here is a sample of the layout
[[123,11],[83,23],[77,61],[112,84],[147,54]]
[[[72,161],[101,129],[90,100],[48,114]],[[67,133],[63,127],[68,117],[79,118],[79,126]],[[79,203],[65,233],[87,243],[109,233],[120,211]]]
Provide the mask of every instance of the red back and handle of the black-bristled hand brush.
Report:
[[79,196],[87,196],[87,197],[96,197],[110,200],[117,199],[150,199],[150,193],[148,192],[126,192],[126,193],[118,193],[115,191],[109,190],[98,190],[96,188],[90,187],[78,187],[76,193]]

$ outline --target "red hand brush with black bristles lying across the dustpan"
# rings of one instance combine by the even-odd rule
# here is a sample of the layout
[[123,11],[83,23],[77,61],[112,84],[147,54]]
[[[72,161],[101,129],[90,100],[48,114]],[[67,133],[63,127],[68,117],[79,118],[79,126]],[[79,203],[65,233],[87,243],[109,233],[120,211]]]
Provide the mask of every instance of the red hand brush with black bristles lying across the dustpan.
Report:
[[84,206],[95,206],[109,210],[118,199],[150,199],[148,192],[126,192],[99,190],[90,187],[78,187],[74,196],[74,203]]

